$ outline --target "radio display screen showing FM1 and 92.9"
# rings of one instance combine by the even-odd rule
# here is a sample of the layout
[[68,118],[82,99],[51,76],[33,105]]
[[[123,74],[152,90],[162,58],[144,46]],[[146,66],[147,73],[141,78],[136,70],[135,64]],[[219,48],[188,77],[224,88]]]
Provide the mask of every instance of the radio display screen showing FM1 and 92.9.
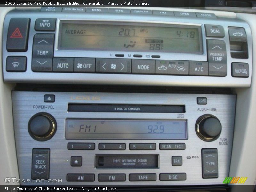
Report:
[[185,140],[187,122],[67,119],[66,139]]

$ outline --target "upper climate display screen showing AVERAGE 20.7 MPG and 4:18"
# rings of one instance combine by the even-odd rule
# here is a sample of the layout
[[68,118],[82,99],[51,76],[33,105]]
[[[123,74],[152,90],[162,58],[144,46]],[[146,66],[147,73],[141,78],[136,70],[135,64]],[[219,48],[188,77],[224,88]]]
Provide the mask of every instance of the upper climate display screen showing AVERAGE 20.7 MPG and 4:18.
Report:
[[200,26],[60,21],[60,50],[202,54]]

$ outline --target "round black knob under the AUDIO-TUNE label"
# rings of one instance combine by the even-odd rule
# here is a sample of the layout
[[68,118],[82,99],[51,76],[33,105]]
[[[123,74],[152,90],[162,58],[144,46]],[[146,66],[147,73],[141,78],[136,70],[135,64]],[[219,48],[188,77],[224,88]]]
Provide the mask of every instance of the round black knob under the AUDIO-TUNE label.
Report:
[[196,133],[204,141],[216,140],[221,133],[221,123],[213,115],[200,116],[196,121]]

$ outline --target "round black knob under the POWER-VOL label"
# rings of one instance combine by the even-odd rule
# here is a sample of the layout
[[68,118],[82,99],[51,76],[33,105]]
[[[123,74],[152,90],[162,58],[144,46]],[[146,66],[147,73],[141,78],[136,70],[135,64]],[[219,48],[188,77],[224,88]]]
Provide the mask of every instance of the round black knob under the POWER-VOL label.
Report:
[[56,120],[49,113],[37,113],[28,122],[28,132],[38,141],[46,141],[52,138],[57,129]]

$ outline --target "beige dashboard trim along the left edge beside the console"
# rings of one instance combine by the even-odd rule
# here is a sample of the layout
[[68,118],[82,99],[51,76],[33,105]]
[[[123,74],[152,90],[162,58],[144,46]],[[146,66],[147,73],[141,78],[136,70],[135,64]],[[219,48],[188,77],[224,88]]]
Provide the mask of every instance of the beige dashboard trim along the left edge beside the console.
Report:
[[[0,44],[2,44],[2,32],[4,17],[11,7],[0,7]],[[2,50],[0,51],[2,58]],[[19,178],[16,148],[14,140],[13,118],[12,118],[12,95],[14,84],[3,82],[2,59],[0,67],[0,185],[15,185],[17,183],[6,183],[6,177]]]

